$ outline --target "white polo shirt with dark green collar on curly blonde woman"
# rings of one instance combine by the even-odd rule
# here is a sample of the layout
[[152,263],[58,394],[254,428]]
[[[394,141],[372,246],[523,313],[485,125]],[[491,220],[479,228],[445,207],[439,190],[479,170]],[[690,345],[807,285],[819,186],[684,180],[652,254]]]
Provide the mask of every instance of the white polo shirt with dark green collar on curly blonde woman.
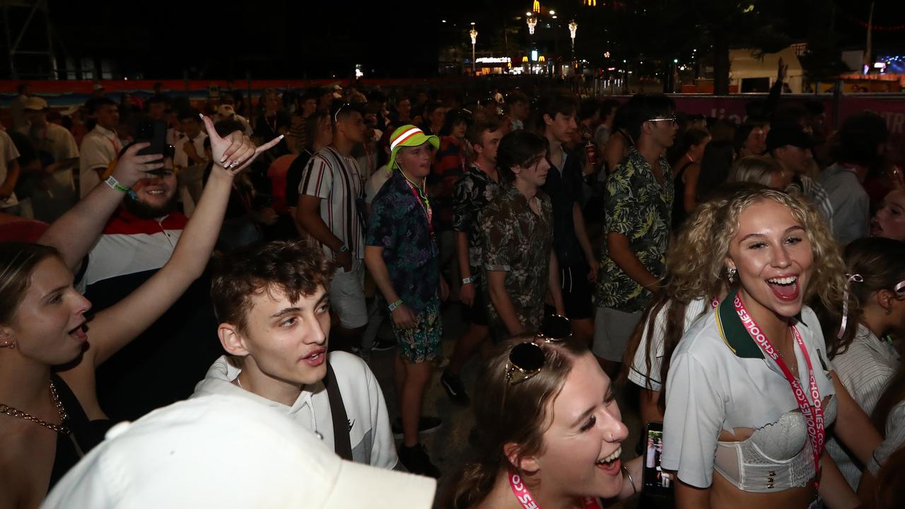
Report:
[[[730,293],[718,312],[695,322],[682,337],[666,380],[662,467],[678,471],[682,482],[700,488],[713,481],[721,430],[757,429],[798,409],[788,380],[738,319],[734,297]],[[821,399],[825,399],[835,390],[824,334],[810,308],[803,307],[800,317],[794,320],[795,328],[805,342]],[[795,356],[799,381],[806,389],[807,364],[797,346]]]

